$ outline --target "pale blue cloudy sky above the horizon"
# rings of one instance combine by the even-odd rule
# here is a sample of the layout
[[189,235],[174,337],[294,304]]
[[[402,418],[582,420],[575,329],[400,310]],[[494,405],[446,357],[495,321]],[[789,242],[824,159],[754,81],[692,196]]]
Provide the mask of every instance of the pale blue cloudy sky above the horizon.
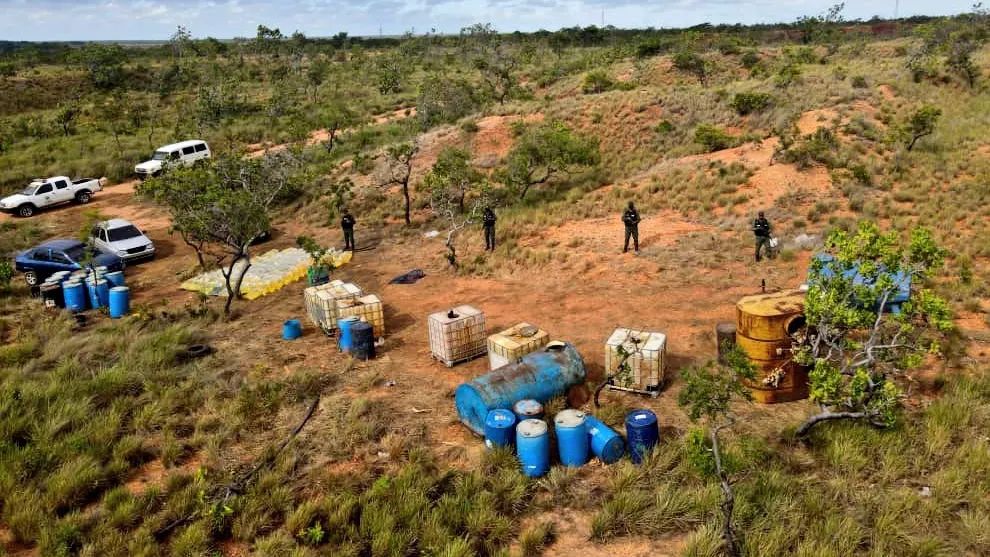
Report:
[[[847,0],[847,19],[968,11],[974,0]],[[0,0],[0,40],[166,40],[253,37],[259,24],[325,37],[457,33],[473,23],[503,32],[574,25],[687,27],[777,23],[823,13],[836,0]]]

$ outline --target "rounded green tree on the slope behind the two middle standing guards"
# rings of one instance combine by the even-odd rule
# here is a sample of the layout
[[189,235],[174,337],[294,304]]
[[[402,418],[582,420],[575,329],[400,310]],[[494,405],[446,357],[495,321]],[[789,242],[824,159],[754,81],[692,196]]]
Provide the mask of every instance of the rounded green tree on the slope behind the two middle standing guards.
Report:
[[533,186],[599,162],[596,140],[574,133],[563,122],[552,121],[522,133],[497,178],[522,200]]

